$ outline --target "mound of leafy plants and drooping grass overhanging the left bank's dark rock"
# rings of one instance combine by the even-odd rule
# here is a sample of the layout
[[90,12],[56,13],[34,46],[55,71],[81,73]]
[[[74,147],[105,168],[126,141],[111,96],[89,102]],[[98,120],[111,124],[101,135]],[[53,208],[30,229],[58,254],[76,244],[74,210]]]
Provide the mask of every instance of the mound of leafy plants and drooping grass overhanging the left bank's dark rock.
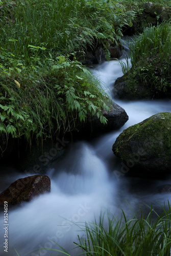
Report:
[[55,139],[94,114],[107,122],[102,108],[109,109],[109,98],[90,71],[65,56],[48,61],[51,64],[38,74],[34,71],[23,79],[15,75],[0,82],[0,130],[5,136],[24,137],[31,145],[35,135],[37,140]]

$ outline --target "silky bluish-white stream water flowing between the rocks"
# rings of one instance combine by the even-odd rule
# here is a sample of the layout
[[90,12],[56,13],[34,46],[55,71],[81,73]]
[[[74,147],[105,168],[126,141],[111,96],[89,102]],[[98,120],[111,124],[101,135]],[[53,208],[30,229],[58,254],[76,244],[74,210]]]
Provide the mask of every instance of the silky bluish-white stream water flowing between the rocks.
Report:
[[[115,79],[122,76],[117,60],[104,62],[93,70],[111,93]],[[131,215],[145,204],[170,200],[169,194],[158,194],[156,187],[169,183],[167,180],[131,178],[129,172],[113,155],[112,144],[126,127],[138,123],[159,112],[171,112],[170,100],[138,100],[132,102],[115,100],[129,115],[129,121],[117,131],[102,135],[92,141],[78,141],[69,144],[67,156],[54,163],[47,175],[52,181],[51,193],[41,195],[22,207],[9,209],[9,248],[4,252],[4,217],[1,215],[0,255],[20,256],[51,255],[53,251],[39,248],[57,248],[57,242],[72,255],[71,250],[78,242],[77,235],[84,238],[84,223],[98,220],[101,212],[109,211],[115,217],[123,208]],[[124,170],[126,169],[126,172]],[[7,172],[8,171],[8,172]],[[4,169],[1,174],[1,190],[13,181],[25,177],[17,170]],[[28,176],[28,175],[27,175]],[[130,206],[128,205],[130,204]],[[52,241],[53,240],[53,241]],[[55,251],[53,252],[55,254]]]

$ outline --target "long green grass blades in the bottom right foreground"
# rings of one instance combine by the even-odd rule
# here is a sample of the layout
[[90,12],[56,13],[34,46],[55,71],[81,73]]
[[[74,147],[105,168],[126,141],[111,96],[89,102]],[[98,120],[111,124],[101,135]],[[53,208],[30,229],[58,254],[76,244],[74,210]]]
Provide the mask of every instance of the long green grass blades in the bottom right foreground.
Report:
[[[110,214],[101,215],[99,221],[78,226],[85,233],[86,239],[79,238],[75,248],[82,252],[76,255],[98,256],[169,256],[171,249],[170,205],[161,206],[158,214],[153,206],[149,211],[127,218],[123,211],[121,217]],[[60,246],[60,245],[59,245]],[[60,246],[61,247],[61,246]],[[61,250],[42,248],[70,255],[64,248]],[[37,250],[38,251],[38,250]],[[57,254],[59,255],[59,254]]]

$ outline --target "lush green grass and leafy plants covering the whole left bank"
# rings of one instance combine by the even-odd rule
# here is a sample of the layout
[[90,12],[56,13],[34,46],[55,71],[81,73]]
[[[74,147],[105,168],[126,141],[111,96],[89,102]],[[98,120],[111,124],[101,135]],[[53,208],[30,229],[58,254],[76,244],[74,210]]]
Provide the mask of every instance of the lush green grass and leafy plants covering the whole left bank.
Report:
[[103,0],[5,0],[0,8],[4,144],[9,137],[25,138],[30,145],[33,138],[54,139],[94,114],[105,124],[102,110],[108,110],[109,97],[75,56],[97,44],[109,56],[109,40],[118,44],[134,13],[114,12],[114,4]]

